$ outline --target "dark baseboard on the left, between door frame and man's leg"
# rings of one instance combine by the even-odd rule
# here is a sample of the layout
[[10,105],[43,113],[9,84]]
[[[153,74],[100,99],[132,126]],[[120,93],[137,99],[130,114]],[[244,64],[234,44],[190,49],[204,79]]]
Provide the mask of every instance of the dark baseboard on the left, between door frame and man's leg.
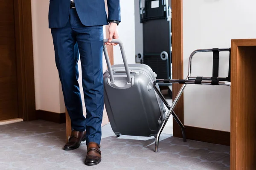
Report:
[[65,113],[54,113],[54,112],[49,112],[49,111],[37,110],[36,116],[37,116],[37,119],[42,119],[42,120],[46,120],[49,122],[55,122],[55,123],[65,123],[66,122]]

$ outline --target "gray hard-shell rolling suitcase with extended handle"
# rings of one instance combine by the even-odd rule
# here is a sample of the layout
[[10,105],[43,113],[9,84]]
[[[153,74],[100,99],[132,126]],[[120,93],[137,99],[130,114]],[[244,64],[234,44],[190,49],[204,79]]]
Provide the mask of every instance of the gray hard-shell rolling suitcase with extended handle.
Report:
[[166,111],[152,86],[157,75],[148,65],[127,64],[122,42],[115,39],[112,42],[119,44],[124,62],[111,66],[104,45],[108,65],[103,74],[104,102],[112,130],[116,136],[156,137]]

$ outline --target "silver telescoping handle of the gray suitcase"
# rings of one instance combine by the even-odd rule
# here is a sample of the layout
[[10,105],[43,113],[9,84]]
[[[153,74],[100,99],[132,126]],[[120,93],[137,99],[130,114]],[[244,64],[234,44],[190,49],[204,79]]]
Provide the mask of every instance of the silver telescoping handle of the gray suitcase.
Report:
[[[110,60],[109,60],[109,57],[108,57],[108,50],[107,50],[107,47],[105,45],[105,43],[108,42],[108,39],[104,39],[103,42],[104,42],[104,44],[103,44],[103,52],[104,52],[104,55],[105,55],[107,66],[108,66],[108,72],[109,72],[109,76],[110,76],[110,81],[111,82],[115,82],[115,79],[114,79],[114,76],[113,76],[113,71],[112,71],[111,64],[110,64]],[[131,74],[130,74],[128,63],[127,63],[127,59],[126,59],[126,56],[125,56],[125,50],[124,50],[124,47],[123,47],[123,43],[119,39],[112,39],[111,43],[119,44],[119,47],[120,47],[120,50],[121,50],[121,54],[122,54],[122,59],[123,59],[124,65],[125,65],[125,71],[126,71],[128,83],[131,83]]]

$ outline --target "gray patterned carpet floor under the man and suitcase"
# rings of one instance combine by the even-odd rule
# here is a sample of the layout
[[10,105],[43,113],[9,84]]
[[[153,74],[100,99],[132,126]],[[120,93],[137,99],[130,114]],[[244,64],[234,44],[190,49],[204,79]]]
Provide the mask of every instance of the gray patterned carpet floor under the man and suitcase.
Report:
[[163,134],[159,152],[154,139],[116,138],[111,126],[102,127],[102,162],[84,165],[86,145],[62,150],[65,125],[45,121],[0,126],[0,170],[228,170],[230,147]]

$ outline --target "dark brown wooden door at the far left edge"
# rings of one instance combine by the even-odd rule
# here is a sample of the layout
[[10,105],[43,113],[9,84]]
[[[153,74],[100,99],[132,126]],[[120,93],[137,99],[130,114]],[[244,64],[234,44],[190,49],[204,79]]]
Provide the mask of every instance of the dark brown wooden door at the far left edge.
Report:
[[0,121],[18,113],[17,63],[13,0],[0,0]]

